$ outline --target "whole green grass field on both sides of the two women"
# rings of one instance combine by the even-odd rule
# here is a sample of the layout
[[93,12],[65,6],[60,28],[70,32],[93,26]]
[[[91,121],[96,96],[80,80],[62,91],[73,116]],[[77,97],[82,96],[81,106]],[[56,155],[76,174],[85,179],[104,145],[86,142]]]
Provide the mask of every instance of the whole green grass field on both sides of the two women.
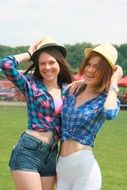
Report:
[[[25,107],[0,107],[0,190],[15,190],[8,160],[26,125]],[[102,170],[102,190],[127,190],[127,111],[106,122],[96,138],[94,154]]]

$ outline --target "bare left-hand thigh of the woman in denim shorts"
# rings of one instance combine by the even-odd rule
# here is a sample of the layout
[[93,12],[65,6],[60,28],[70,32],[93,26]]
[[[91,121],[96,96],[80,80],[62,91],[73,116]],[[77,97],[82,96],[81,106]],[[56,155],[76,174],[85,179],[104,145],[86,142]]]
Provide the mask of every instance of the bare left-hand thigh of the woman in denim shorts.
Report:
[[13,171],[16,190],[42,190],[41,178],[37,172]]

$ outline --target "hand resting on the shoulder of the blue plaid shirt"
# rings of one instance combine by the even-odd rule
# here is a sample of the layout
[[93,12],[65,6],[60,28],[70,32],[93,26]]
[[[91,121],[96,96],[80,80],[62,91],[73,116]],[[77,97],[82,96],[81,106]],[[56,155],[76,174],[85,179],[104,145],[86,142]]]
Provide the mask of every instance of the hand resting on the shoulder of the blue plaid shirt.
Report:
[[72,83],[68,84],[67,89],[69,88],[69,95],[77,93],[82,85],[84,85],[84,80],[83,79],[73,81]]

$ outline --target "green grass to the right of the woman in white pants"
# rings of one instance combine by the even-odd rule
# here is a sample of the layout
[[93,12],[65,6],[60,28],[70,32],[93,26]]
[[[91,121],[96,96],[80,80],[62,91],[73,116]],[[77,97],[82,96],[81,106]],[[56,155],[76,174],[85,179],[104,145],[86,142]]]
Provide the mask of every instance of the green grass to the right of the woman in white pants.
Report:
[[103,176],[103,190],[127,189],[127,111],[107,121],[96,138],[95,157]]

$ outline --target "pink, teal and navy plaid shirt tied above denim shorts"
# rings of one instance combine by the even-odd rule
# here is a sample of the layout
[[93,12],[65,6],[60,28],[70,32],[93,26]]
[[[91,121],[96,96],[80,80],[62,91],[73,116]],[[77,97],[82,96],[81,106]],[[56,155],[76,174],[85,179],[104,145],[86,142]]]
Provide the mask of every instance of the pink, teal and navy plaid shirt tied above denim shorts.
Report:
[[[52,96],[45,85],[34,78],[22,74],[17,70],[17,61],[9,56],[0,61],[0,68],[7,78],[12,81],[24,94],[28,108],[28,129],[37,131],[53,131],[57,141],[61,134],[61,114],[55,114]],[[62,95],[64,96],[64,90]]]

